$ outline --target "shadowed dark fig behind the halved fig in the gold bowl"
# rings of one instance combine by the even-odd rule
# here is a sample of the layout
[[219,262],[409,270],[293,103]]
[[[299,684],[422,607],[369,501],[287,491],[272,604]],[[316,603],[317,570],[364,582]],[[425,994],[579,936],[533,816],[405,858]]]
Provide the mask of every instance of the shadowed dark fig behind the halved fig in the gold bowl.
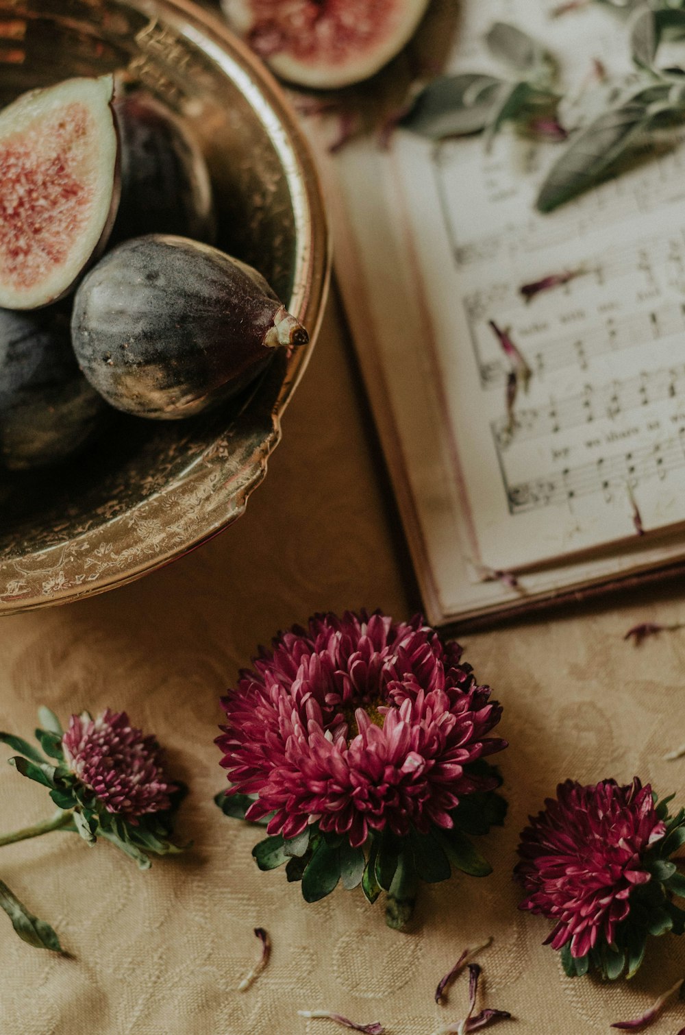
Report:
[[213,244],[209,172],[190,130],[150,94],[116,100],[121,200],[111,244],[143,234],[180,234]]

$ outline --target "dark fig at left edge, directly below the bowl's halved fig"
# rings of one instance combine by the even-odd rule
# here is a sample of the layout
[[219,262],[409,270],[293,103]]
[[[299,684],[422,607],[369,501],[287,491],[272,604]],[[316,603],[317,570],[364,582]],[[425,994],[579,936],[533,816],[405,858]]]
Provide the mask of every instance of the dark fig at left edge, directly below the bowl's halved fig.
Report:
[[0,309],[1,466],[21,471],[67,460],[108,412],[79,369],[68,309]]

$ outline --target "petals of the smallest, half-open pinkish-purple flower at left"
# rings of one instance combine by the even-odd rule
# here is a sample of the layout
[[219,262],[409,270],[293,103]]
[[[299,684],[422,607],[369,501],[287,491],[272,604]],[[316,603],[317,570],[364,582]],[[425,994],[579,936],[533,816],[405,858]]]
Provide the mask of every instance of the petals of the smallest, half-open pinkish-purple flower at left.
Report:
[[109,812],[136,824],[139,816],[171,808],[177,787],[162,768],[159,745],[131,727],[126,712],[72,715],[62,747],[67,767]]

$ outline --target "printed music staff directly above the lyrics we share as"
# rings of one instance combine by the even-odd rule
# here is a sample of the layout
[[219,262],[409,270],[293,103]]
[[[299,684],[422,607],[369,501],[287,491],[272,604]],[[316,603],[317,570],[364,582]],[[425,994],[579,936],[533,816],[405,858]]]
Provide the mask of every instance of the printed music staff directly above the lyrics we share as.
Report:
[[496,444],[508,449],[515,442],[527,442],[571,427],[592,424],[621,413],[629,413],[652,403],[685,396],[685,363],[644,372],[625,380],[614,380],[565,398],[550,398],[543,407],[515,410],[512,419],[501,417],[490,424]]

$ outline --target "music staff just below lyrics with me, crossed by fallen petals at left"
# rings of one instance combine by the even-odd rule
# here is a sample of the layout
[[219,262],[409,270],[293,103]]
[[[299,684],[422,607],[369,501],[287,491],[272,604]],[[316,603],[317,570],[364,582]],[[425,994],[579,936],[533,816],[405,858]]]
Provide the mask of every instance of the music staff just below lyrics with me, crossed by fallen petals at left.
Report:
[[[484,325],[478,328],[480,333],[492,335],[492,330]],[[667,302],[658,308],[632,313],[621,317],[607,317],[600,324],[593,323],[582,330],[564,337],[556,338],[546,348],[527,346],[517,342],[532,373],[543,377],[545,372],[561,371],[569,366],[588,368],[591,359],[630,349],[634,346],[646,346],[652,342],[669,337],[685,331],[685,303]],[[477,331],[471,327],[476,355]],[[506,357],[498,357],[488,362],[480,363],[480,380],[484,389],[501,386],[507,380],[510,364]]]

